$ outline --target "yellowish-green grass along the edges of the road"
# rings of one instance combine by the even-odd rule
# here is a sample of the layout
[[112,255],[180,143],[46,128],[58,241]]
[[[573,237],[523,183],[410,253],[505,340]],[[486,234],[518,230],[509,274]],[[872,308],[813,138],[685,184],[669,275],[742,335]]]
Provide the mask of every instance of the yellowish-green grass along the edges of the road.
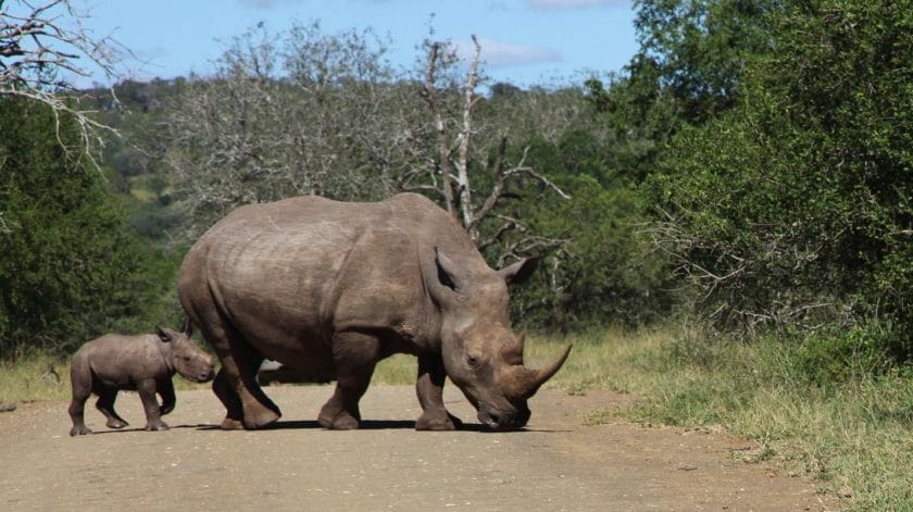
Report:
[[[913,510],[909,369],[879,376],[853,371],[851,378],[823,385],[797,370],[802,354],[788,344],[708,341],[684,327],[531,336],[527,365],[546,364],[567,342],[574,344],[571,358],[546,387],[576,395],[603,388],[636,398],[628,409],[590,412],[583,419],[587,424],[623,420],[723,428],[759,444],[734,457],[776,461],[791,474],[818,478],[831,494],[849,486],[848,508]],[[42,376],[48,364],[54,364],[60,383]],[[378,364],[373,382],[412,385],[416,370],[415,358],[396,355]],[[195,387],[182,378],[175,384]],[[0,403],[68,398],[66,361],[33,355],[0,362]]]

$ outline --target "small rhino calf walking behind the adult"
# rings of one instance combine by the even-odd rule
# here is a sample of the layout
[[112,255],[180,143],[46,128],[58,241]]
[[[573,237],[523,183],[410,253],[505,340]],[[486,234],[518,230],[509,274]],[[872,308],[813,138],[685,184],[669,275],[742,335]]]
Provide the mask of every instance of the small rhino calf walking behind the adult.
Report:
[[[108,419],[110,428],[127,426],[114,411],[114,399],[120,390],[139,394],[147,430],[167,429],[162,415],[174,410],[174,374],[179,373],[195,383],[212,380],[215,375],[212,357],[190,339],[191,333],[192,325],[188,320],[183,333],[155,327],[155,334],[109,334],[83,345],[73,355],[70,367],[73,385],[70,435],[92,433],[83,419],[86,400],[91,394],[98,396],[96,408]],[[161,405],[155,394],[162,397]]]

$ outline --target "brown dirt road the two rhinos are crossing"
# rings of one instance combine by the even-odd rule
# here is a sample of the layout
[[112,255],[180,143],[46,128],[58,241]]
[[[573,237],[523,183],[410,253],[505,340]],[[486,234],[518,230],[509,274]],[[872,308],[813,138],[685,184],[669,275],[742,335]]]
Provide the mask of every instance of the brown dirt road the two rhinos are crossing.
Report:
[[0,414],[0,510],[837,510],[815,484],[765,464],[734,462],[751,444],[716,434],[626,424],[585,425],[626,398],[540,391],[518,433],[478,432],[452,386],[448,408],[470,427],[415,432],[414,389],[374,386],[360,430],[314,421],[328,386],[266,388],[284,416],[261,432],[214,428],[224,410],[208,390],[178,392],[147,433],[139,398],[121,394],[130,423],[111,430],[91,402],[96,434],[71,438],[64,402]]

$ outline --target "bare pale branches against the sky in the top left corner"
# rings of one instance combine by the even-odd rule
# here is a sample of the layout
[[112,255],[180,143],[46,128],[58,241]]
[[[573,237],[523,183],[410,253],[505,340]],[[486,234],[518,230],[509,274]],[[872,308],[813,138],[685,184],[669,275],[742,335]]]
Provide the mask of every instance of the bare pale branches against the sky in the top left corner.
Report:
[[110,37],[95,37],[84,25],[87,18],[71,0],[0,0],[0,97],[27,98],[55,116],[71,115],[89,149],[102,143],[102,130],[113,130],[80,107],[74,82],[92,76],[91,66],[117,76],[125,50]]

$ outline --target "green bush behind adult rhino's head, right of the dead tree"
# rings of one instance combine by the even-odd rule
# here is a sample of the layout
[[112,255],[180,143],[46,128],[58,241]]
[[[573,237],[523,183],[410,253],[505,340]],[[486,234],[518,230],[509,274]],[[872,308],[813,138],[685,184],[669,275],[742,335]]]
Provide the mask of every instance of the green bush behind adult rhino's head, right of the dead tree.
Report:
[[514,207],[531,232],[566,241],[546,254],[534,279],[512,291],[518,316],[528,325],[567,332],[645,324],[666,313],[671,297],[663,291],[663,261],[641,233],[646,204],[605,166],[597,140],[570,130],[558,143],[536,139],[528,147],[527,162],[555,176],[573,199],[550,195]]

